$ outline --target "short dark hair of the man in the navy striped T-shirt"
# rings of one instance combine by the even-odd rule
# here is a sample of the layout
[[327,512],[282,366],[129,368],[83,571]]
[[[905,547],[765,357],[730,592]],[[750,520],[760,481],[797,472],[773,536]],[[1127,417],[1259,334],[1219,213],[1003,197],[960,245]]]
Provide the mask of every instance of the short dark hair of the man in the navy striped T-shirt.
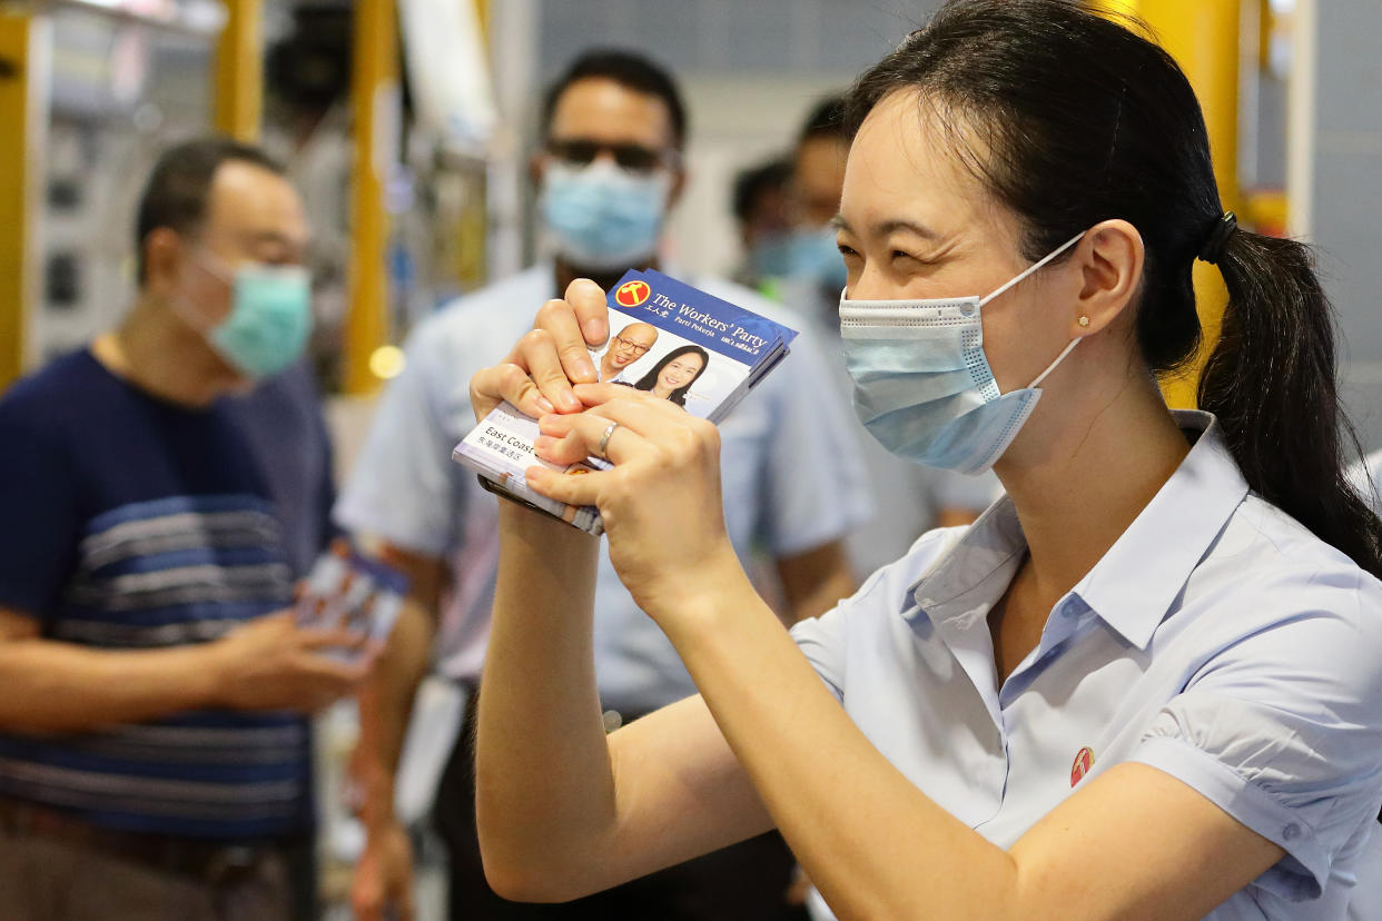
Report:
[[256,146],[210,137],[185,141],[163,152],[153,164],[149,180],[140,196],[138,217],[134,222],[134,250],[137,278],[144,284],[144,242],[160,226],[171,228],[181,235],[193,233],[206,218],[206,199],[211,181],[221,164],[240,162],[252,163],[276,175],[283,175],[283,167]]

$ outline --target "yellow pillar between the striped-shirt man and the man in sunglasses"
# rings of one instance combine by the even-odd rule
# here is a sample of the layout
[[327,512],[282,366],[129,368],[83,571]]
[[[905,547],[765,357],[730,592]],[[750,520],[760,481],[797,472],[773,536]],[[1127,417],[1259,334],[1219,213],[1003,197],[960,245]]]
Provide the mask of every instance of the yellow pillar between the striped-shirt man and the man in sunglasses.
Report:
[[388,336],[388,214],[384,182],[399,127],[395,0],[355,0],[351,73],[351,254],[346,313],[347,394],[369,394],[380,377],[370,356]]

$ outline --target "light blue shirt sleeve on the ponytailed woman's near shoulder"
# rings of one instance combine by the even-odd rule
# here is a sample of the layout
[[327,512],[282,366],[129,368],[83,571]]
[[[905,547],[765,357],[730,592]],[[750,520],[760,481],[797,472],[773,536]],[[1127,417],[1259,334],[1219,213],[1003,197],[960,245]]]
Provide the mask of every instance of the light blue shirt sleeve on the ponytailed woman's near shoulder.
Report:
[[1238,605],[1295,606],[1213,656],[1133,761],[1180,779],[1287,857],[1256,885],[1320,898],[1382,802],[1382,585],[1353,570],[1276,579]]

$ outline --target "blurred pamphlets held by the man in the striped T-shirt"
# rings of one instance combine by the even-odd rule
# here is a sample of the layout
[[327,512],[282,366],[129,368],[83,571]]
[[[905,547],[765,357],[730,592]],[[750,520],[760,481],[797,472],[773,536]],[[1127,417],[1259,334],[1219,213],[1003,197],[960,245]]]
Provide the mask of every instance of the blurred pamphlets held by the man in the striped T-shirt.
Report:
[[330,653],[355,661],[369,645],[383,645],[394,630],[408,576],[387,563],[365,556],[350,541],[337,539],[316,558],[297,598],[297,623],[321,630],[344,628],[355,637],[350,646]]

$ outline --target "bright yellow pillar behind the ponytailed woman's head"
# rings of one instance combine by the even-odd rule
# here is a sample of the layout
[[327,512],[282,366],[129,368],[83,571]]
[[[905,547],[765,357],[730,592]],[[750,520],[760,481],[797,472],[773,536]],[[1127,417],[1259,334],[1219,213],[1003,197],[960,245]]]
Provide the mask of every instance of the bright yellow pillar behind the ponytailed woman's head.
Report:
[[[1238,188],[1238,64],[1242,0],[1106,0],[1099,6],[1142,18],[1161,46],[1180,65],[1200,98],[1215,180],[1224,210],[1242,214]],[[1206,228],[1208,232],[1208,228]],[[1209,351],[1219,340],[1229,294],[1212,265],[1195,262],[1195,301],[1204,345],[1195,362],[1175,378],[1162,381],[1172,406],[1195,405],[1195,387]]]

